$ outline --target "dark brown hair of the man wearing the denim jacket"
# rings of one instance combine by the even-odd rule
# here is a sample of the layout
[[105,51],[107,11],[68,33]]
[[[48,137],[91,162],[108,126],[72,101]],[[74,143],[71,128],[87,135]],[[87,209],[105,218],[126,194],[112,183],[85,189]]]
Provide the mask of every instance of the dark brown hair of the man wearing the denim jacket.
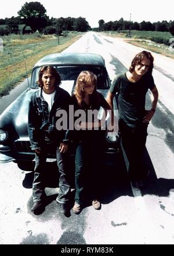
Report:
[[37,81],[39,87],[42,88],[44,86],[44,84],[42,82],[42,75],[44,74],[45,71],[49,71],[50,74],[52,74],[56,78],[55,86],[59,86],[61,83],[61,77],[60,77],[59,72],[52,66],[44,66],[44,67],[41,67],[41,69],[39,70],[39,78]]

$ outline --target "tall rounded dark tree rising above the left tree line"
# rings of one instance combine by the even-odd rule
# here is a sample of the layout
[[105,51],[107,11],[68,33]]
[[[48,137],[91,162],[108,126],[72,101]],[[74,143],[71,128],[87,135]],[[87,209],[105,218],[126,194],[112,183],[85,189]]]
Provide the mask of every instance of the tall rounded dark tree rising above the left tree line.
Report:
[[18,14],[21,18],[24,18],[26,25],[30,26],[34,31],[42,30],[42,28],[46,27],[48,19],[46,9],[39,2],[24,3]]

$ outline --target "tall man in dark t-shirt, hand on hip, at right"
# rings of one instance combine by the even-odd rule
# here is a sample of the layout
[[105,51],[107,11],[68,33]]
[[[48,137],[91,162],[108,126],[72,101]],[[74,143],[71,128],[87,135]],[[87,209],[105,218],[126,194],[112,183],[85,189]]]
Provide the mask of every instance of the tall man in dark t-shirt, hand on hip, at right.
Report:
[[[158,91],[152,76],[154,58],[150,52],[138,53],[132,60],[129,71],[118,74],[107,95],[113,107],[113,98],[118,92],[119,131],[122,145],[129,161],[129,176],[134,188],[144,185],[148,170],[142,163],[146,145],[147,126],[154,116]],[[146,93],[153,94],[151,109],[145,109]]]

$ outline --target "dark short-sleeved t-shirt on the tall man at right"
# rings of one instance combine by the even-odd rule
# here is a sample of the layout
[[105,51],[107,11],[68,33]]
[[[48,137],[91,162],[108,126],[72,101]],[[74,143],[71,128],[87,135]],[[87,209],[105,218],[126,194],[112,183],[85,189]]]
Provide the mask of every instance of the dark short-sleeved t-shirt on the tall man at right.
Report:
[[152,75],[143,75],[138,82],[131,82],[126,73],[118,74],[110,87],[110,92],[118,92],[119,120],[129,127],[135,127],[143,121],[145,115],[146,93],[155,86]]

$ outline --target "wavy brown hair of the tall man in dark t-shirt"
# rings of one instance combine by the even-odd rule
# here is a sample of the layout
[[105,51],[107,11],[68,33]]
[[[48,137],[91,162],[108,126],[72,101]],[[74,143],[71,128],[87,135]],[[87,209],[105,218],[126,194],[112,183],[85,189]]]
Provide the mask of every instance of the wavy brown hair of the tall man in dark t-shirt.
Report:
[[129,71],[132,73],[135,70],[135,66],[142,62],[143,57],[147,57],[150,60],[150,67],[147,70],[146,74],[152,74],[153,67],[154,67],[154,57],[151,55],[150,52],[142,51],[137,53],[137,55],[133,58],[131,67],[129,67]]

